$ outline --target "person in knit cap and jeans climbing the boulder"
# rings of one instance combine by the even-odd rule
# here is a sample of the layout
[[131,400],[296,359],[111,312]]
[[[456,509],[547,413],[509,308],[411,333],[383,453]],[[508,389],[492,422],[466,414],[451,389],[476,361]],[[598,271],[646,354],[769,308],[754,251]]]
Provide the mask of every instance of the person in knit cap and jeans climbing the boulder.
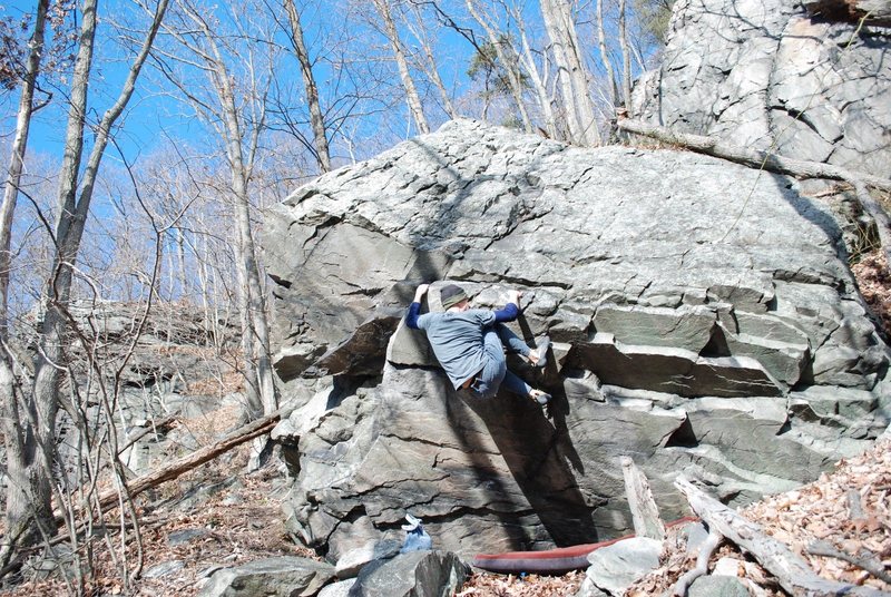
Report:
[[490,311],[470,309],[463,288],[449,284],[440,293],[446,311],[421,315],[421,301],[429,287],[429,284],[418,286],[405,324],[427,332],[433,353],[456,390],[464,389],[477,398],[488,399],[495,397],[503,383],[510,392],[531,398],[539,404],[550,401],[550,394],[532,389],[508,371],[505,361],[507,348],[528,359],[533,366],[544,368],[547,363],[548,336],[539,340],[532,350],[505,325],[520,314],[519,291],[510,291],[503,309]]

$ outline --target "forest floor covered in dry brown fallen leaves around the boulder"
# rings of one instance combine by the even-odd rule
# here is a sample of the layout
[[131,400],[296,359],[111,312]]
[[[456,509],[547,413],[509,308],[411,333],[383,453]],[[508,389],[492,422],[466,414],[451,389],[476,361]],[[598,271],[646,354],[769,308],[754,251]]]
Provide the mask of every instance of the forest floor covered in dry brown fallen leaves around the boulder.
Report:
[[[880,254],[865,256],[854,266],[865,300],[883,322],[891,337],[891,280]],[[212,418],[182,420],[199,441],[212,441],[226,427],[232,427],[236,412],[216,411]],[[155,492],[137,499],[140,515],[138,535],[133,528],[120,532],[118,520],[108,520],[108,530],[79,545],[81,556],[89,551],[89,569],[82,574],[85,595],[194,596],[209,575],[224,566],[245,564],[274,556],[315,555],[298,547],[284,528],[281,505],[286,487],[281,467],[270,464],[245,474],[248,447],[243,446],[193,470]],[[228,483],[228,485],[226,485]],[[194,488],[221,487],[202,497],[200,507],[177,507],[182,497]],[[856,492],[862,515],[852,517],[849,508]],[[802,555],[815,571],[829,579],[868,584],[882,590],[891,585],[846,561],[811,556],[807,546],[824,540],[850,555],[868,550],[891,567],[891,440],[877,442],[872,450],[850,460],[842,460],[832,472],[795,491],[771,496],[742,512],[762,525],[765,532],[786,542]],[[120,548],[126,537],[126,548]],[[666,545],[669,545],[667,541]],[[63,551],[63,545],[59,550]],[[768,572],[725,545],[713,556],[712,565],[722,557],[737,561],[737,574],[757,587],[760,595],[784,595]],[[84,559],[84,558],[81,558]],[[59,575],[46,577],[33,561],[19,572],[21,584],[0,590],[10,597],[66,595],[77,593]],[[643,597],[663,595],[686,570],[694,566],[681,549],[666,549],[663,567],[633,586],[627,595]],[[129,570],[123,575],[121,570]],[[138,574],[136,574],[138,571]],[[130,580],[124,581],[128,576]],[[476,571],[459,589],[459,597],[556,597],[574,596],[584,571],[565,576],[503,576]]]

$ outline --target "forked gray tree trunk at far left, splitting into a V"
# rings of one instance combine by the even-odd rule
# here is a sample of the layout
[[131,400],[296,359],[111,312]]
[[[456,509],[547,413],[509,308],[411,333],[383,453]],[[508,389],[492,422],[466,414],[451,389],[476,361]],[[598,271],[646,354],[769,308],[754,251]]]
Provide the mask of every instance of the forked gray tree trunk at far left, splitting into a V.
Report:
[[[56,418],[59,410],[59,385],[65,370],[65,339],[68,331],[65,311],[69,301],[74,266],[77,262],[84,227],[89,213],[99,165],[108,145],[111,127],[120,117],[133,96],[136,80],[145,63],[148,50],[167,9],[160,0],[151,28],[130,66],[127,78],[115,104],[102,115],[95,129],[92,149],[81,174],[84,154],[84,126],[87,114],[87,91],[94,55],[97,23],[96,0],[85,0],[78,53],[71,76],[68,126],[65,155],[59,173],[58,215],[56,221],[56,252],[50,277],[47,280],[38,325],[38,356],[35,362],[32,401],[19,410],[18,437],[26,448],[8,454],[8,473],[12,485],[27,492],[27,508],[17,509],[18,500],[8,501],[8,516],[30,520],[37,529],[48,530],[51,525],[51,466],[56,446]],[[25,457],[25,458],[22,458]],[[19,483],[19,480],[22,482]],[[20,525],[19,525],[20,526]],[[33,530],[33,528],[32,528]],[[30,539],[35,534],[30,534]]]

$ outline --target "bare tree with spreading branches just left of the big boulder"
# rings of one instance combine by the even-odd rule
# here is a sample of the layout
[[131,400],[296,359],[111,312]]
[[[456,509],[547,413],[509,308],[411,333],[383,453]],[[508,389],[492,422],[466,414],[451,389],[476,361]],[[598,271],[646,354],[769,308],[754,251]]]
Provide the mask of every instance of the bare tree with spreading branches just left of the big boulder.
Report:
[[[266,99],[272,81],[272,59],[256,56],[256,47],[227,48],[227,40],[268,39],[267,31],[247,35],[236,30],[224,36],[219,23],[212,21],[210,11],[190,0],[177,3],[177,26],[166,25],[165,31],[178,43],[178,51],[156,49],[159,68],[210,125],[223,146],[229,170],[231,194],[234,199],[236,223],[236,273],[242,317],[242,351],[246,381],[247,412],[249,419],[273,412],[277,408],[277,393],[270,356],[270,331],[260,275],[252,223],[251,184],[254,178],[261,137],[266,130]],[[234,18],[236,28],[241,27]],[[272,51],[270,43],[258,45]],[[243,76],[236,78],[233,66],[243,60]],[[265,65],[262,63],[265,60]],[[170,66],[185,65],[197,68],[208,84],[210,95],[199,96],[190,84],[188,74],[177,72]],[[260,62],[260,63],[258,63]],[[258,70],[265,69],[265,72]],[[238,91],[244,90],[244,96]]]

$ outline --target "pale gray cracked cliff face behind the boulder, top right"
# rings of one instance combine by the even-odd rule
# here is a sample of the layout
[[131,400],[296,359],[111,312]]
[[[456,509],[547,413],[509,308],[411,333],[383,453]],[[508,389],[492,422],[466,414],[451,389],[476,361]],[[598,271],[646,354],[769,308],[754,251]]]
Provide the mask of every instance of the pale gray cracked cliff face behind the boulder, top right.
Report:
[[[831,2],[825,2],[831,3]],[[743,147],[887,175],[891,29],[787,0],[678,0],[635,115]],[[846,16],[845,16],[846,17]]]

